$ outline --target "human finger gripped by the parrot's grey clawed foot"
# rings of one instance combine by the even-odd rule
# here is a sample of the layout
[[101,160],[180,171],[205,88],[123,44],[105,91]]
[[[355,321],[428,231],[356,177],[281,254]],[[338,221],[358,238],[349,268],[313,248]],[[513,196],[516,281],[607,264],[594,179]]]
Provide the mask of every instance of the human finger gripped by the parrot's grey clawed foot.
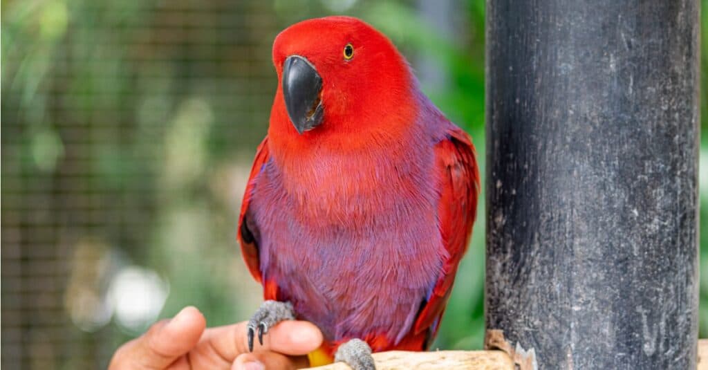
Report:
[[[249,352],[246,322],[207,329],[205,338],[227,361]],[[293,356],[308,354],[322,344],[322,332],[307,321],[286,320],[278,323],[263,336],[263,344],[256,341],[253,352],[273,351]]]

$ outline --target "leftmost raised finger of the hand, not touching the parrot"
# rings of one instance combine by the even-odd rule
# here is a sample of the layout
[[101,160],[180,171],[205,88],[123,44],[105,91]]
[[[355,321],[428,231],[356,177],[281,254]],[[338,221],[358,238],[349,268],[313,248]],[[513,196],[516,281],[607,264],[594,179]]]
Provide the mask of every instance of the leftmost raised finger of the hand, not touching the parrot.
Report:
[[111,369],[164,369],[197,344],[205,327],[202,313],[185,307],[171,320],[152,325],[147,333],[121,347]]

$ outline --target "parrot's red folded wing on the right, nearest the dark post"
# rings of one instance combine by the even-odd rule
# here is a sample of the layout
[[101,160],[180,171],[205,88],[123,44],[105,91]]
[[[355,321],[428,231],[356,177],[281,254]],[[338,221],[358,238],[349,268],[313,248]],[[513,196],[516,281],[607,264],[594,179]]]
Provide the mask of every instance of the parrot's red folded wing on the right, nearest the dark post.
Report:
[[413,327],[416,334],[430,330],[430,337],[434,337],[438,330],[457,265],[467,250],[479,195],[479,169],[472,141],[463,130],[451,126],[447,138],[435,145],[436,168],[441,179],[438,222],[442,234],[441,248],[445,249],[441,254],[446,258],[442,273],[423,302]]

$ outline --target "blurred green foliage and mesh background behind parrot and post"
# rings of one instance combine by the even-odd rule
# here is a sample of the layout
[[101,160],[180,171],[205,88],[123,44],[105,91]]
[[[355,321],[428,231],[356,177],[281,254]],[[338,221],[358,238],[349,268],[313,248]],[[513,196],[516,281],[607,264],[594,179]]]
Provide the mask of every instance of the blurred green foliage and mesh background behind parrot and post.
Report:
[[[481,0],[3,0],[1,6],[7,369],[103,368],[120,343],[184,305],[198,306],[208,325],[244,320],[256,309],[261,288],[241,261],[236,218],[275,91],[271,43],[292,23],[343,13],[389,35],[424,91],[472,135],[484,165]],[[708,230],[708,135],[701,142],[700,225]],[[706,234],[702,337],[708,336]],[[481,216],[435,346],[481,348],[483,286]]]

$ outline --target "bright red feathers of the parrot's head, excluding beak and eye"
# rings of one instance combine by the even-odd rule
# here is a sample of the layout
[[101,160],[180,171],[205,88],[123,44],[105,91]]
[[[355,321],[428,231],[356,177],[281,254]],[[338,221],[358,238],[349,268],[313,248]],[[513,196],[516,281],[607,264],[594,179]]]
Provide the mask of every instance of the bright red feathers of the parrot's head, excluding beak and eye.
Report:
[[[350,59],[347,45],[353,48]],[[300,135],[288,119],[282,95],[282,65],[299,55],[314,65],[323,80],[324,120]],[[278,91],[268,137],[276,157],[302,153],[316,142],[332,149],[355,149],[374,140],[399,137],[411,123],[414,97],[404,57],[385,35],[356,18],[333,16],[303,21],[283,30],[273,43]],[[396,102],[396,103],[392,103]]]

